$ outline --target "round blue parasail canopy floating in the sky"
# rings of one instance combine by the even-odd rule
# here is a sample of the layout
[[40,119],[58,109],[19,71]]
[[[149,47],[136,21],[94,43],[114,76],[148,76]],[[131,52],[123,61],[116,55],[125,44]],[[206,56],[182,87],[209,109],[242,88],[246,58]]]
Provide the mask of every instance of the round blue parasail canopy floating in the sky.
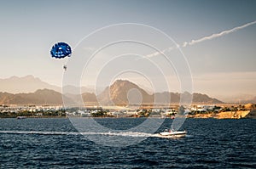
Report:
[[72,54],[70,46],[66,42],[57,42],[51,48],[50,54],[53,58],[61,59],[70,57]]

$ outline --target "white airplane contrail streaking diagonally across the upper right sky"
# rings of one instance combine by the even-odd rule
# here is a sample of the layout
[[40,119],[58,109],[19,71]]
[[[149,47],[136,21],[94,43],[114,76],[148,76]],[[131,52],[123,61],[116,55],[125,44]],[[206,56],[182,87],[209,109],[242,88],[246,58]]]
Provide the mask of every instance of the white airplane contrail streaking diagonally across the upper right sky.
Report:
[[[187,47],[187,46],[195,45],[196,43],[204,42],[204,41],[207,41],[207,40],[212,40],[212,39],[217,38],[217,37],[222,37],[222,36],[224,36],[224,35],[233,33],[233,32],[235,32],[235,31],[239,31],[239,30],[241,30],[241,29],[243,29],[243,28],[246,28],[246,27],[249,26],[249,25],[254,25],[254,24],[256,24],[256,20],[253,21],[253,22],[249,22],[249,23],[247,23],[247,24],[245,24],[245,25],[240,25],[240,26],[234,27],[234,28],[232,28],[232,29],[230,29],[230,30],[221,31],[221,32],[219,32],[219,33],[214,33],[214,34],[212,34],[212,35],[210,35],[210,36],[201,37],[200,39],[192,40],[192,41],[190,41],[190,42],[183,42],[182,45],[177,45],[176,48],[178,48],[178,47],[183,47],[183,48],[185,48],[185,47]],[[175,48],[173,48],[173,47],[171,47],[171,48],[166,48],[166,49],[164,49],[163,51],[155,52],[154,54],[148,54],[146,57],[154,57],[154,56],[157,56],[157,55],[159,55],[159,54],[164,54],[164,53],[166,53],[167,51],[171,51],[172,49],[175,49]]]

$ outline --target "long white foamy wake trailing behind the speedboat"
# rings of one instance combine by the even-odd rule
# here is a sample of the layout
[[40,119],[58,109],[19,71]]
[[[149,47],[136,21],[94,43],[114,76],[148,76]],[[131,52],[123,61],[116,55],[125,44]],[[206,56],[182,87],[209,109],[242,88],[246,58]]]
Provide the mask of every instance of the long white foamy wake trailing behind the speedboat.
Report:
[[146,132],[45,132],[45,131],[0,131],[5,134],[37,134],[37,135],[104,135],[136,138],[166,138],[158,133]]

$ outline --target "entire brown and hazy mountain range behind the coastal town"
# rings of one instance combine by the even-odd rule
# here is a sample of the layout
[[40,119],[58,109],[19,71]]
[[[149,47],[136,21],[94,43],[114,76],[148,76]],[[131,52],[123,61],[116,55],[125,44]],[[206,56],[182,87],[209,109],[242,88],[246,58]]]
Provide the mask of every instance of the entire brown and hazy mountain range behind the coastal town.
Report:
[[[178,104],[183,96],[185,98],[193,97],[195,104],[222,104],[218,99],[212,99],[206,94],[201,93],[147,93],[142,87],[137,84],[125,80],[117,80],[112,85],[106,87],[102,93],[96,95],[95,93],[84,92],[80,96],[78,93],[65,93],[63,96],[59,92],[60,88],[49,85],[46,82],[40,81],[33,76],[11,77],[7,81],[0,81],[0,87],[7,85],[7,82],[14,82],[16,84],[9,84],[9,88],[19,88],[24,91],[31,91],[36,87],[45,87],[38,89],[35,92],[29,93],[0,93],[0,104],[62,104],[62,99],[69,103],[77,103],[79,100],[84,101],[85,104],[102,104],[102,105],[127,105],[127,104]],[[2,84],[3,82],[3,84]],[[31,83],[31,84],[28,84]],[[37,86],[38,85],[38,86]]]

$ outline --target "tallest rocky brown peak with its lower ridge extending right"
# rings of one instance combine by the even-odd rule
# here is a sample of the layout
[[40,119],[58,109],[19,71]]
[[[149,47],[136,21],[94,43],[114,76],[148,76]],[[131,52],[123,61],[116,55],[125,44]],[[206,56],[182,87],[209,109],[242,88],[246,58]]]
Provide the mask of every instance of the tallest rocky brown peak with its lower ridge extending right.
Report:
[[137,84],[124,80],[113,82],[110,87],[97,96],[101,104],[178,104],[184,98],[193,98],[195,104],[222,104],[218,99],[212,99],[201,93],[153,93],[148,94]]

